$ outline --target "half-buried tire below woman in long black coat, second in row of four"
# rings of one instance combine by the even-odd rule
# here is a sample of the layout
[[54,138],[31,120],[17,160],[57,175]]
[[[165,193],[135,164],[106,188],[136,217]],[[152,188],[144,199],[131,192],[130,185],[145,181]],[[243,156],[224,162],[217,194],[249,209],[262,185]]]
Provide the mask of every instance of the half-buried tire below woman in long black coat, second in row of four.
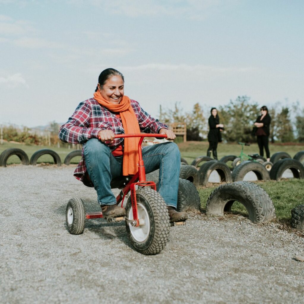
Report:
[[214,170],[219,174],[221,182],[232,182],[230,169],[225,163],[221,161],[207,161],[199,168],[200,185],[206,186],[208,184],[210,174]]

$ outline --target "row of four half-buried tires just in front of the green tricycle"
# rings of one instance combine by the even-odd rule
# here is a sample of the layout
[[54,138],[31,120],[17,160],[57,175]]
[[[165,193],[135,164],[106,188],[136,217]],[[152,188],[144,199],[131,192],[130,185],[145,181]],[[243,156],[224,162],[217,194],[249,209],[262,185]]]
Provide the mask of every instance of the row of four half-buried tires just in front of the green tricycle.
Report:
[[294,178],[304,178],[303,164],[292,158],[284,158],[275,162],[269,172],[264,165],[256,161],[243,161],[233,169],[232,173],[228,165],[222,161],[207,161],[199,167],[199,170],[193,165],[182,165],[179,177],[191,181],[195,186],[206,186],[213,171],[218,173],[220,182],[226,183],[243,181],[245,175],[253,171],[257,180],[279,181],[287,169],[292,172]]

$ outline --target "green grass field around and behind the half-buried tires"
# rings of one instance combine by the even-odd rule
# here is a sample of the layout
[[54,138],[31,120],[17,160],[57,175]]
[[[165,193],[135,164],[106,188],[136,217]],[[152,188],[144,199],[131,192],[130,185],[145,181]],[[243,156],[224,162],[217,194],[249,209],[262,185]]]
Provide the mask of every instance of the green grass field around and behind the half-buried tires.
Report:
[[[187,143],[179,143],[178,144],[181,156],[184,157],[189,164],[199,156],[206,155],[206,150],[208,148],[207,142],[187,142]],[[64,162],[64,158],[68,153],[70,153],[73,149],[67,149],[67,148],[57,148],[57,147],[43,147],[43,146],[29,146],[25,144],[18,144],[18,143],[4,143],[3,145],[0,145],[0,153],[8,148],[19,148],[26,152],[29,159],[32,156],[34,152],[40,149],[51,149],[56,151],[60,158],[62,163]],[[218,157],[221,158],[225,155],[239,155],[241,146],[234,143],[234,144],[223,144],[220,143],[218,146]],[[298,151],[304,150],[304,146],[302,145],[276,145],[271,144],[270,145],[270,152],[271,154],[275,152],[287,152],[293,157]],[[249,147],[245,147],[245,153],[258,153],[258,147],[257,144],[252,144]],[[77,164],[80,160],[80,157],[74,157],[71,163]],[[44,155],[39,158],[38,163],[41,162],[49,162],[53,163],[53,158],[49,155]],[[7,164],[13,164],[13,163],[20,163],[20,160],[17,156],[11,156],[9,157],[9,160]],[[268,193],[268,195],[271,197],[275,209],[276,209],[276,215],[277,219],[280,222],[287,222],[290,221],[291,214],[290,211],[293,207],[304,204],[304,180],[297,180],[297,179],[291,179],[291,180],[282,180],[282,181],[267,181],[267,182],[259,182],[257,183]],[[202,209],[206,208],[206,201],[212,192],[214,188],[216,188],[218,185],[210,185],[210,187],[199,187],[199,195],[201,197],[201,207]],[[247,216],[246,209],[238,202],[233,204],[232,207],[233,213],[240,213],[245,216]]]

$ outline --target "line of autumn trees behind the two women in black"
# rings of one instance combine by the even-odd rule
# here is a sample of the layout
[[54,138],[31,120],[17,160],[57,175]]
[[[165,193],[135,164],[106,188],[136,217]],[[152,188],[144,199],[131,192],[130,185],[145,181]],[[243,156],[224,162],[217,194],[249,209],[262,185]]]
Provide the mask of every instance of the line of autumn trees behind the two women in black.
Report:
[[[257,116],[260,115],[261,106],[263,105],[258,105],[257,102],[250,102],[250,97],[246,95],[218,106],[220,123],[225,127],[222,133],[223,140],[254,142],[256,136],[252,129]],[[278,102],[275,106],[267,107],[271,116],[271,142],[304,142],[304,109],[299,102],[289,106]],[[186,123],[187,140],[203,140],[208,134],[210,109],[210,106],[196,103],[192,111],[184,112],[180,103],[176,102],[174,109],[161,111],[160,120],[165,123]]]

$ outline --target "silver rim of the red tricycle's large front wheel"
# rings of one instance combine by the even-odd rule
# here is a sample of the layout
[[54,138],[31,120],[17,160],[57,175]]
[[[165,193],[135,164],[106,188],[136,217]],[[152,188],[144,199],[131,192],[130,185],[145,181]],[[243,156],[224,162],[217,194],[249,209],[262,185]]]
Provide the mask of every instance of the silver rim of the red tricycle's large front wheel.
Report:
[[[144,220],[144,224],[138,227],[134,227],[129,223],[129,228],[132,237],[136,240],[136,242],[144,242],[150,233],[150,220],[147,209],[141,203],[137,203],[137,214],[138,219]],[[132,207],[129,210],[128,218],[133,219]]]

